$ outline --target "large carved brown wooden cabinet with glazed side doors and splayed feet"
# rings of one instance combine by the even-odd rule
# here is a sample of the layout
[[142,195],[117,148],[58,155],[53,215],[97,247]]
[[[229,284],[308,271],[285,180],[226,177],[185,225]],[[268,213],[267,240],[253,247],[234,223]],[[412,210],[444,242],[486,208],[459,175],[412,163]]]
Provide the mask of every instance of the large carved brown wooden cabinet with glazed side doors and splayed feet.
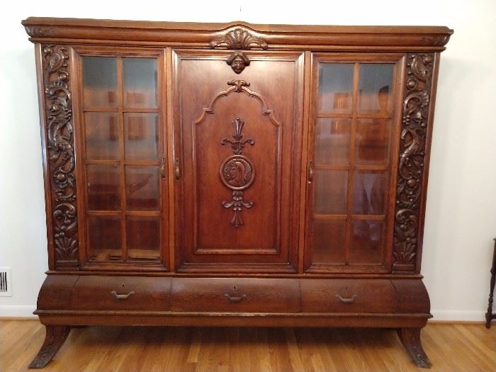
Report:
[[446,27],[27,18],[49,271],[77,325],[394,327],[418,366]]

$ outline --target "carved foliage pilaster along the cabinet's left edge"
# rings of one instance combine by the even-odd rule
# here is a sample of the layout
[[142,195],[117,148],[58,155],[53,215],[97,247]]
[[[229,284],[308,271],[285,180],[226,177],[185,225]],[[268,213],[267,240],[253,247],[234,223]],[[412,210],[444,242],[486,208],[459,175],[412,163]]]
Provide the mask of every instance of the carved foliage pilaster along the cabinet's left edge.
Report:
[[55,267],[74,267],[79,264],[79,238],[69,48],[43,45],[42,52],[44,130],[51,186]]

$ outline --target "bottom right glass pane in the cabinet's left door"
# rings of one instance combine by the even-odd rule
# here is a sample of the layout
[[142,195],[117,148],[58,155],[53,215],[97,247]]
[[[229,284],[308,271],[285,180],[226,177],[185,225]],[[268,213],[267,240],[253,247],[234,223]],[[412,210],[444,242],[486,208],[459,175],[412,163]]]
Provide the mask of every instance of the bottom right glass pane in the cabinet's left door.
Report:
[[126,236],[130,259],[160,257],[160,220],[158,217],[128,216]]

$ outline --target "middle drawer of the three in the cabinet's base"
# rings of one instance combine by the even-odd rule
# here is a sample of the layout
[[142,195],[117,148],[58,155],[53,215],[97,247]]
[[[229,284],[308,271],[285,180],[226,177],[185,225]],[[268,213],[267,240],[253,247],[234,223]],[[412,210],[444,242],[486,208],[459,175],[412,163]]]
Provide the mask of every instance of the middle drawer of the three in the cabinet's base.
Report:
[[298,312],[298,279],[174,278],[172,311]]

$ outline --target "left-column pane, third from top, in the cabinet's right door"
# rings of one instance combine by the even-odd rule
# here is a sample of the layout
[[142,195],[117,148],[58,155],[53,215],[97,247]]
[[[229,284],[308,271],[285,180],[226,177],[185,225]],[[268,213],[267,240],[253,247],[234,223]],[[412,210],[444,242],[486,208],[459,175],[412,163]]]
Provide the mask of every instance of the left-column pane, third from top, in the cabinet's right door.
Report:
[[314,213],[316,215],[346,214],[348,171],[314,171]]

